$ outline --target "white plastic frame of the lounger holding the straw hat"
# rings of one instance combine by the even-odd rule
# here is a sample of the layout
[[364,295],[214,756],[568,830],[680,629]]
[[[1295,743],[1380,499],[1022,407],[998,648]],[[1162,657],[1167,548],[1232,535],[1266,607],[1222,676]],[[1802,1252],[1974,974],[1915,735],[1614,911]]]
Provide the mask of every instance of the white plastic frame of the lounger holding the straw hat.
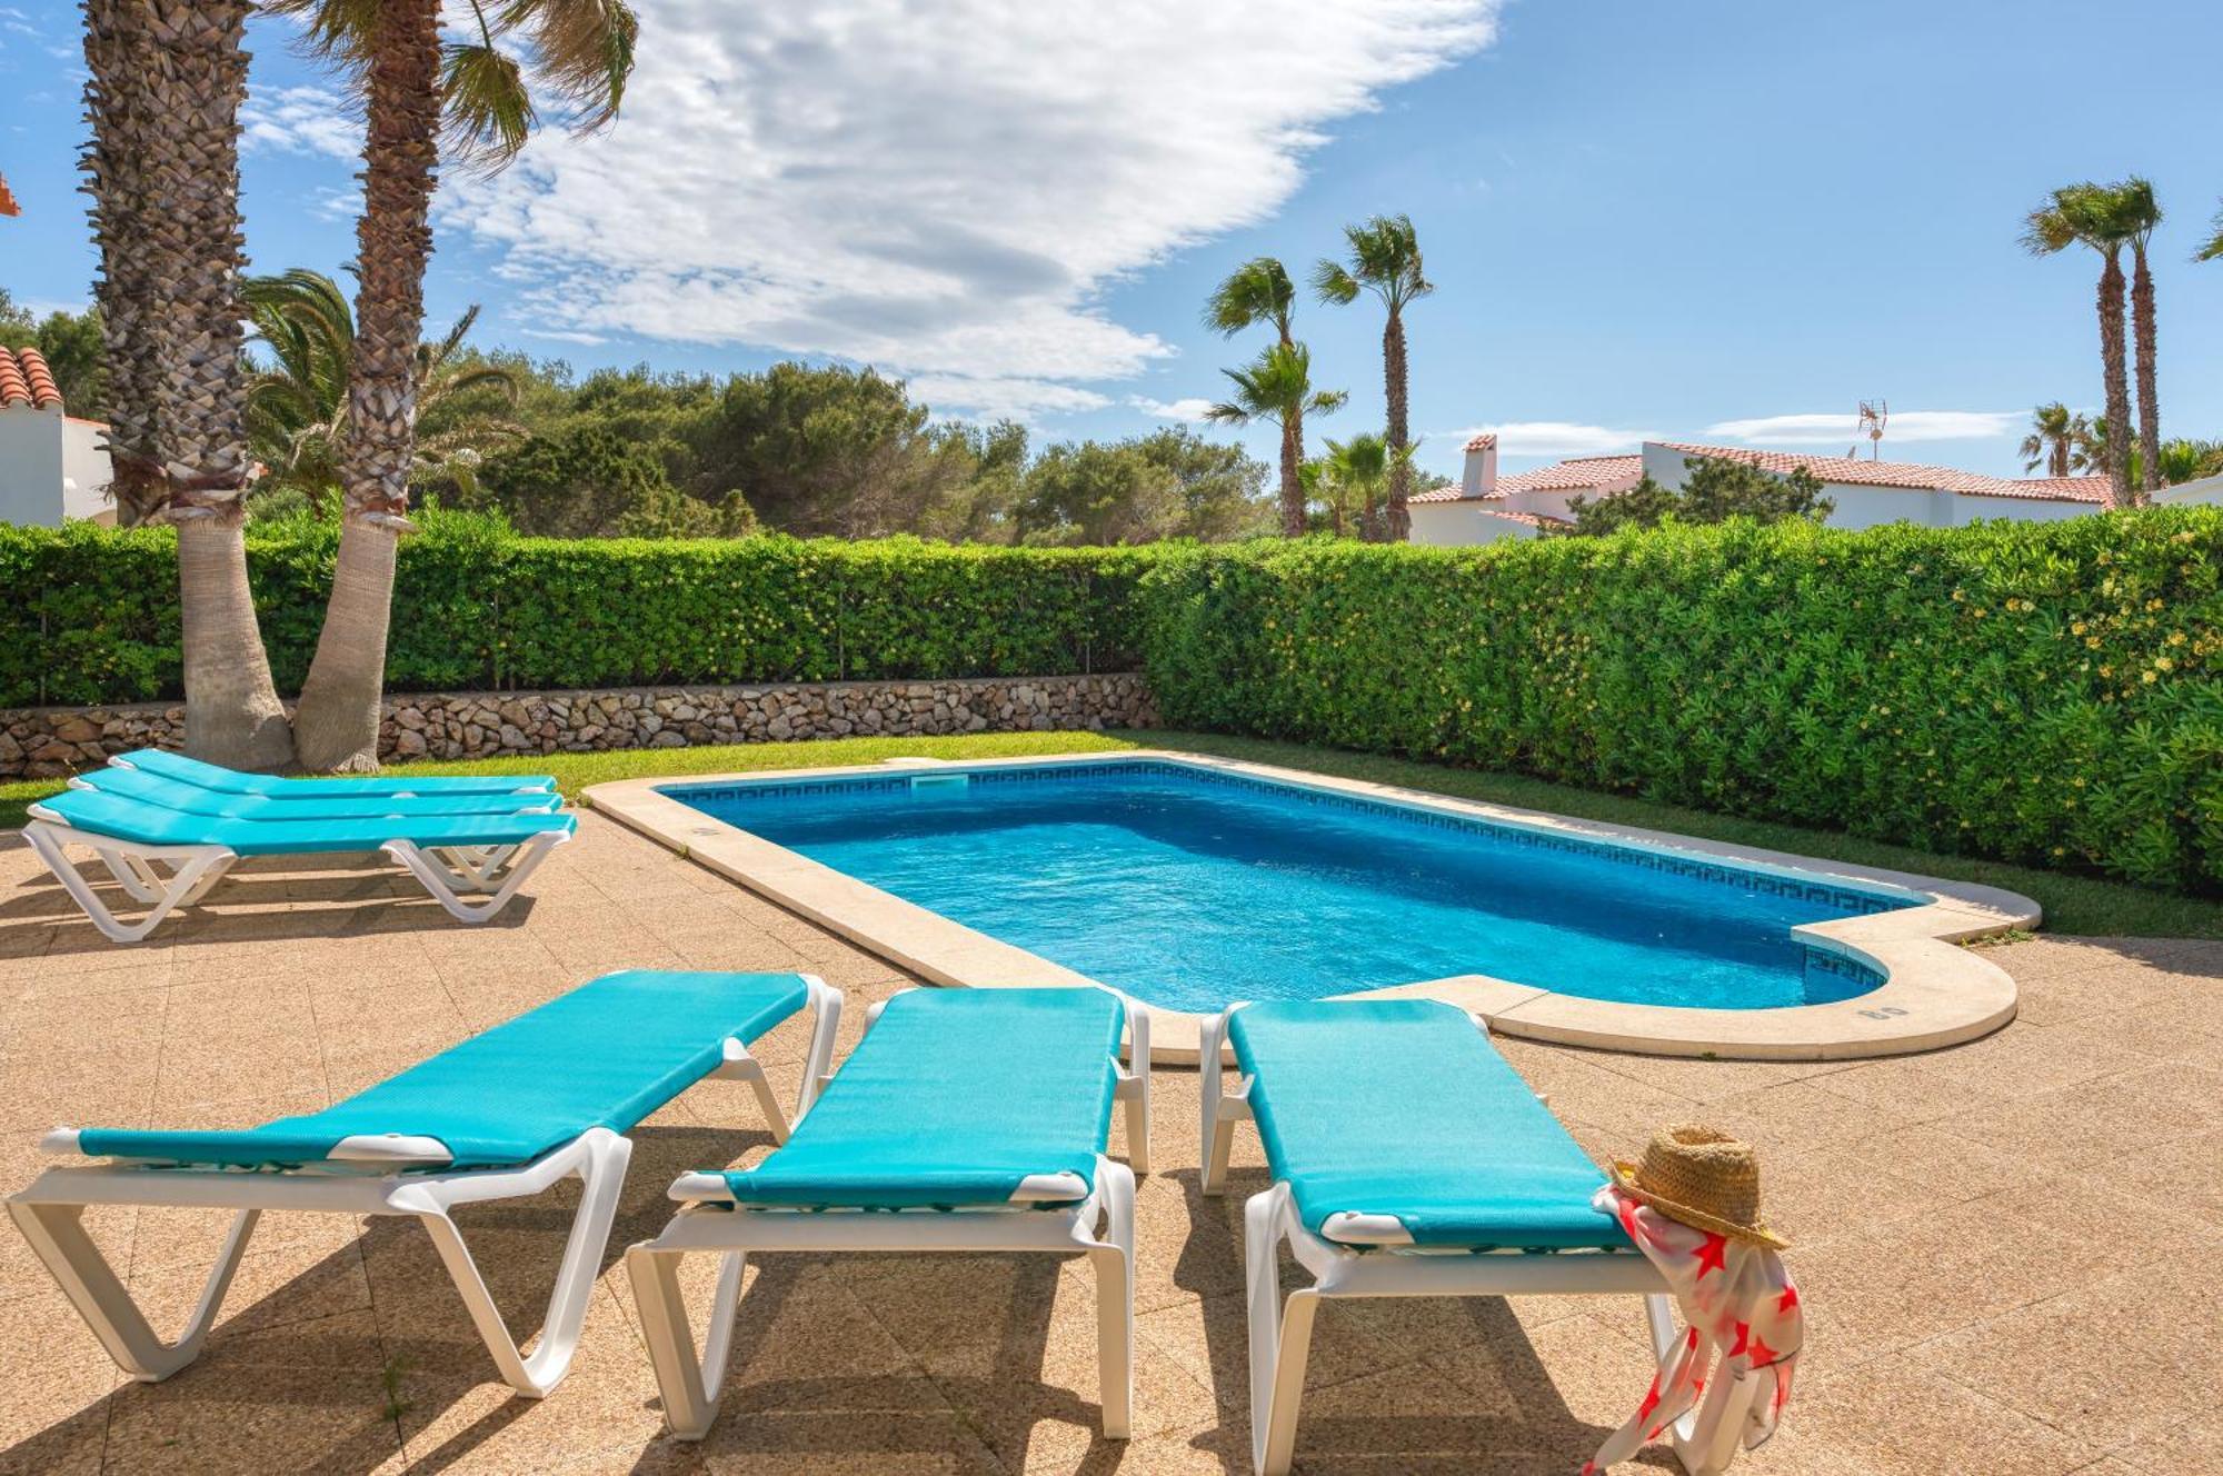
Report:
[[[1227,1020],[1240,1005],[1203,1023],[1198,1063],[1203,1067],[1205,1194],[1227,1187],[1227,1156],[1236,1123],[1252,1118],[1252,1078],[1223,1083],[1220,1045]],[[1487,1025],[1474,1018],[1487,1034]],[[1354,1111],[1363,1109],[1354,1103]],[[1385,1145],[1385,1154],[1394,1145]],[[1243,1260],[1249,1285],[1252,1369],[1252,1460],[1260,1476],[1287,1476],[1296,1454],[1296,1414],[1305,1392],[1312,1352],[1312,1320],[1320,1298],[1354,1296],[1643,1296],[1652,1347],[1665,1356],[1681,1336],[1667,1283],[1641,1251],[1432,1251],[1387,1214],[1332,1214],[1320,1225],[1334,1238],[1312,1234],[1296,1211],[1285,1180],[1254,1194],[1243,1205]],[[1280,1243],[1314,1285],[1280,1298]],[[1745,1412],[1761,1380],[1721,1378],[1705,1400],[1674,1423],[1676,1458],[1692,1476],[1716,1476],[1738,1452]]]

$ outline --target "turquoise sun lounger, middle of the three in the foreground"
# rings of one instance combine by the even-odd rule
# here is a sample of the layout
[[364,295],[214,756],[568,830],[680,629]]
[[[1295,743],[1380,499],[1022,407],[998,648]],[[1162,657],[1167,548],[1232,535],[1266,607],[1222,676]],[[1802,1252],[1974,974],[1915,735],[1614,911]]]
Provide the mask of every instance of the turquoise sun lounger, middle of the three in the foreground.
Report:
[[[625,1254],[674,1434],[700,1440],[718,1416],[749,1251],[1049,1251],[1096,1267],[1105,1436],[1125,1438],[1134,1171],[1105,1156],[1114,1100],[1147,1171],[1149,1011],[1109,989],[909,989],[878,1007],[785,1147],[687,1174],[671,1185],[685,1209]],[[725,1258],[700,1352],[689,1251]]]

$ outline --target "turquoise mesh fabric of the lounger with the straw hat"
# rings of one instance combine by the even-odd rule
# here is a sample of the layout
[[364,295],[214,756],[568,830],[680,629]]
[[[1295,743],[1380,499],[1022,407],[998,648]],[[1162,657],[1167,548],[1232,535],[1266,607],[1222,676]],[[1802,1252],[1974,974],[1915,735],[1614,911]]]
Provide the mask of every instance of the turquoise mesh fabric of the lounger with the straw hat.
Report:
[[1227,1038],[1314,1234],[1332,1214],[1389,1214],[1416,1245],[1627,1249],[1589,1207],[1605,1174],[1452,1005],[1247,1005]]

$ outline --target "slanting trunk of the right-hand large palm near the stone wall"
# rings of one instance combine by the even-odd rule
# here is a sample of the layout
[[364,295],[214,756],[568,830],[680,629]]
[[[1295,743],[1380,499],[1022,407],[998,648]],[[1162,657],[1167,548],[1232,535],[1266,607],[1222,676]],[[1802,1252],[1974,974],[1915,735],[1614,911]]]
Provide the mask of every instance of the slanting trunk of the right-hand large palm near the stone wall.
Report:
[[369,76],[356,349],[347,376],[340,556],[300,689],[309,769],[378,767],[378,698],[393,614],[393,545],[409,520],[416,347],[425,329],[431,191],[440,164],[440,0],[387,0]]

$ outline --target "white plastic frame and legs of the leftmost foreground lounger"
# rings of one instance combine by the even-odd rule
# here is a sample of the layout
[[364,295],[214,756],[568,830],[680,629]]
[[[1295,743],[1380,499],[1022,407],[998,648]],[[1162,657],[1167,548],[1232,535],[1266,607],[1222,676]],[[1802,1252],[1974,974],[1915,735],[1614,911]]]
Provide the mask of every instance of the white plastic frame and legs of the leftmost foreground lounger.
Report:
[[[818,1083],[834,1056],[834,1031],[840,1027],[840,989],[809,974],[803,976],[803,983],[814,1023],[796,1118],[807,1114],[818,1096]],[[787,1143],[789,1116],[771,1094],[762,1063],[749,1054],[742,1040],[729,1038],[725,1043],[725,1063],[711,1069],[705,1080],[711,1078],[749,1083],[771,1136]],[[40,1140],[40,1147],[49,1154],[76,1154],[78,1131],[58,1127]],[[24,1240],[31,1243],[100,1345],[109,1349],[122,1372],[142,1383],[160,1383],[200,1356],[265,1209],[411,1216],[431,1234],[440,1263],[453,1278],[487,1352],[494,1354],[502,1380],[527,1398],[540,1398],[562,1380],[571,1367],[571,1354],[578,1352],[578,1332],[587,1318],[587,1303],[594,1296],[602,1247],[609,1245],[609,1227],[618,1214],[618,1194],[625,1189],[625,1165],[631,1156],[629,1138],[620,1138],[607,1127],[589,1127],[527,1165],[442,1174],[438,1167],[449,1163],[449,1151],[438,1138],[365,1134],[340,1140],[320,1165],[287,1171],[185,1169],[131,1160],[47,1169],[9,1198],[7,1207]],[[502,1323],[502,1314],[478,1274],[478,1263],[449,1211],[456,1205],[480,1200],[529,1198],[574,1174],[582,1185],[578,1216],[571,1220],[571,1236],[556,1271],[556,1292],[540,1323],[540,1343],[531,1354],[525,1354]],[[89,1205],[238,1211],[200,1300],[176,1340],[165,1343],[156,1334],[122,1278],[84,1231],[82,1216]]]

